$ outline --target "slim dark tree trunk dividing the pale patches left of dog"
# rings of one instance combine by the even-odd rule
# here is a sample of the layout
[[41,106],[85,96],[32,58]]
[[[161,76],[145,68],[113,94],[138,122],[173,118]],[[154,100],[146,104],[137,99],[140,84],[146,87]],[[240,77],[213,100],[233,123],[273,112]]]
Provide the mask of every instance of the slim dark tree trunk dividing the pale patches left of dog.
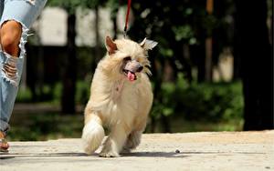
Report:
[[62,112],[66,114],[75,113],[75,93],[76,93],[76,72],[77,72],[77,59],[76,59],[76,15],[68,15],[68,59],[65,60],[65,73],[63,75],[63,90],[61,107]]

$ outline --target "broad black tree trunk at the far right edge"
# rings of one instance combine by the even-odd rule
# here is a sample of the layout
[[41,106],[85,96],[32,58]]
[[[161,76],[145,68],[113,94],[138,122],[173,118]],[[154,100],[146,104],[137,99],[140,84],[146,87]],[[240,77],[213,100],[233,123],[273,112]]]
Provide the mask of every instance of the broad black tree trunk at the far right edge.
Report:
[[273,126],[273,58],[266,0],[237,0],[237,50],[244,92],[244,130]]

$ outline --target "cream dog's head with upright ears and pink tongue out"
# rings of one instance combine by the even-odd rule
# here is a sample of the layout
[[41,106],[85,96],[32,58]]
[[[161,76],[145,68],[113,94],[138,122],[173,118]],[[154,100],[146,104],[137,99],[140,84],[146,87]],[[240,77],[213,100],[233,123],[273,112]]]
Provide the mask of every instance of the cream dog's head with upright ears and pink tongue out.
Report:
[[151,75],[147,51],[153,49],[156,42],[146,38],[140,44],[129,39],[113,41],[107,36],[105,44],[108,54],[104,69],[111,72],[109,74],[124,75],[130,81],[136,80],[140,73]]

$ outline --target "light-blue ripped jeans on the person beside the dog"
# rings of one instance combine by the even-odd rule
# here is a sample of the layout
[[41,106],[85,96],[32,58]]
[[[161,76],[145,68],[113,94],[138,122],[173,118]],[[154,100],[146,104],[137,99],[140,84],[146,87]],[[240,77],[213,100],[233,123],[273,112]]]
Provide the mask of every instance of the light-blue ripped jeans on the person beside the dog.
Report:
[[5,134],[9,128],[8,123],[23,71],[27,32],[46,2],[47,0],[0,0],[1,27],[9,20],[14,20],[22,25],[19,56],[9,55],[0,47],[0,131]]

